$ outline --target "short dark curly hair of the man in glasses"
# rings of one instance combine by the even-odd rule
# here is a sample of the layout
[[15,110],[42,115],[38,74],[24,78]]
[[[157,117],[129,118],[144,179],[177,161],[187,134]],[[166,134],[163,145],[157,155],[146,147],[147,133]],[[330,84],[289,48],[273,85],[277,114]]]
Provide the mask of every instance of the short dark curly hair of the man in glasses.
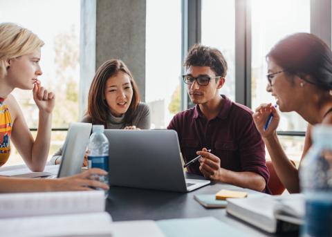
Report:
[[227,74],[227,61],[216,48],[201,44],[194,44],[185,58],[185,68],[190,66],[210,66],[216,76],[225,77]]

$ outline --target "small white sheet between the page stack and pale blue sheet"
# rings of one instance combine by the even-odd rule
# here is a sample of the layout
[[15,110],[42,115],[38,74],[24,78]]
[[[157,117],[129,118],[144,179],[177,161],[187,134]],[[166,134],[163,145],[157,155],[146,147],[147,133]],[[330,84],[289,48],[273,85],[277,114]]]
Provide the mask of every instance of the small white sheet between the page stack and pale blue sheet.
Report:
[[113,222],[113,234],[116,237],[163,237],[163,232],[153,220],[135,220]]

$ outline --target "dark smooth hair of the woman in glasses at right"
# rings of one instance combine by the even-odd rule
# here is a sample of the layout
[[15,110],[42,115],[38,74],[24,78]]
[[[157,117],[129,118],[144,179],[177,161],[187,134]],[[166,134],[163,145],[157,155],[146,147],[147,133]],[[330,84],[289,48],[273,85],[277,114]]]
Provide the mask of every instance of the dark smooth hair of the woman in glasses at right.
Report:
[[332,89],[331,49],[313,34],[296,33],[282,39],[266,59],[324,91]]

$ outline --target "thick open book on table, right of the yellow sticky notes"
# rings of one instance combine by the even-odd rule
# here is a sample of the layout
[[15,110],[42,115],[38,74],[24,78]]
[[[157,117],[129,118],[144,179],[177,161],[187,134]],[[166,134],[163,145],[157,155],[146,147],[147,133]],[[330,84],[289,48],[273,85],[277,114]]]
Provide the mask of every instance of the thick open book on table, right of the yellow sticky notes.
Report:
[[304,218],[304,196],[230,198],[227,212],[270,233],[297,231]]

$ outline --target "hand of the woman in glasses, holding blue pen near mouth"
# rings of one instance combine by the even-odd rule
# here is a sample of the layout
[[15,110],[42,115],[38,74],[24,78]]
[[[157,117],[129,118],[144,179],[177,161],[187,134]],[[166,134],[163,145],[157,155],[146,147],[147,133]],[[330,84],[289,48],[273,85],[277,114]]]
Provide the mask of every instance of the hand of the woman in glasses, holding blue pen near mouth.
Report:
[[[270,113],[273,114],[273,118],[268,125],[268,128],[264,130],[266,122],[268,121],[268,117]],[[263,138],[268,138],[270,135],[274,135],[275,131],[279,124],[279,114],[272,104],[261,104],[256,108],[255,113],[252,115],[255,125],[259,133]]]

